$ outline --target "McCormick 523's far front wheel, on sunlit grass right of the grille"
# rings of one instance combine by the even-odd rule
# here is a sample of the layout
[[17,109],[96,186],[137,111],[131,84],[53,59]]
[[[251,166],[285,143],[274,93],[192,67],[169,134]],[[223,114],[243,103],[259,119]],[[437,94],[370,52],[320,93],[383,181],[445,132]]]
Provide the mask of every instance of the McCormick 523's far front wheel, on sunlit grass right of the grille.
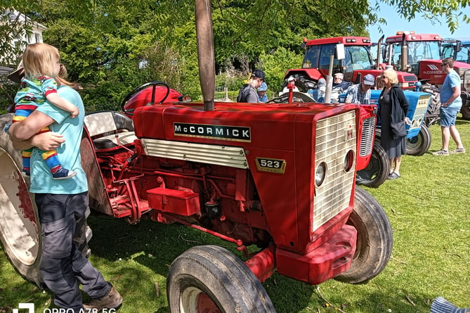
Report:
[[358,231],[351,267],[334,279],[345,283],[365,283],[377,276],[389,262],[393,234],[389,217],[375,198],[355,188],[354,210],[346,224]]

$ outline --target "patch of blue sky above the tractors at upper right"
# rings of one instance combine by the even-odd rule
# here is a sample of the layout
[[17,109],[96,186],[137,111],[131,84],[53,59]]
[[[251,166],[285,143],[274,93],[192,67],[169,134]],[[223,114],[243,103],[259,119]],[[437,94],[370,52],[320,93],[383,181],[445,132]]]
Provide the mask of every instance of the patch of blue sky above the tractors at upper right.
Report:
[[[466,8],[464,13],[466,13],[466,15],[470,15],[470,8]],[[459,30],[455,31],[454,34],[451,34],[447,24],[445,23],[445,19],[436,19],[436,22],[432,24],[431,21],[425,20],[421,16],[417,16],[414,20],[408,22],[403,18],[397,18],[396,10],[391,6],[385,6],[384,4],[381,5],[379,15],[387,20],[387,25],[381,25],[382,32],[379,31],[379,27],[377,25],[372,25],[368,28],[372,42],[377,42],[382,34],[384,34],[385,37],[389,37],[396,34],[398,30],[414,30],[417,34],[440,34],[443,38],[470,37],[469,24],[460,23]]]

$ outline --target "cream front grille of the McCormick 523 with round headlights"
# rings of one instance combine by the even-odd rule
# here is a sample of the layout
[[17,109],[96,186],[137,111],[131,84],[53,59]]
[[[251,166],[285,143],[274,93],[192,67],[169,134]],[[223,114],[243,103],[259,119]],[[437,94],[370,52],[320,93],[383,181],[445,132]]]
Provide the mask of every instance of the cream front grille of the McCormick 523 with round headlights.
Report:
[[315,139],[315,169],[325,162],[326,177],[315,186],[312,231],[346,209],[351,199],[355,164],[346,172],[348,151],[356,155],[355,111],[319,120]]

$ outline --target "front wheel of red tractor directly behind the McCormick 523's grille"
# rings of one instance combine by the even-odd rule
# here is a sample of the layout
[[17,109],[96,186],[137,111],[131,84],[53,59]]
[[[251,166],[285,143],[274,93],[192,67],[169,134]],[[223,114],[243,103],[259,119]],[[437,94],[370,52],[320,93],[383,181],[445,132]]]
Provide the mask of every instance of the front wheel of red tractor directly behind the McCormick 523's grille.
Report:
[[387,158],[384,148],[375,141],[369,164],[364,170],[360,170],[356,173],[355,181],[357,184],[376,188],[384,184],[387,176],[389,176],[389,172],[389,159]]

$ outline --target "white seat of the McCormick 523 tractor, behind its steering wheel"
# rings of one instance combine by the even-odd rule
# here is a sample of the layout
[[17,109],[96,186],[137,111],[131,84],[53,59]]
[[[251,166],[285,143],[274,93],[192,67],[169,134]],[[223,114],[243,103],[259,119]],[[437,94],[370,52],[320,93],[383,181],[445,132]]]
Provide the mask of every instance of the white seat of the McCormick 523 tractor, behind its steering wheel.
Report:
[[130,146],[137,139],[132,120],[119,112],[93,112],[85,115],[84,123],[96,150]]

